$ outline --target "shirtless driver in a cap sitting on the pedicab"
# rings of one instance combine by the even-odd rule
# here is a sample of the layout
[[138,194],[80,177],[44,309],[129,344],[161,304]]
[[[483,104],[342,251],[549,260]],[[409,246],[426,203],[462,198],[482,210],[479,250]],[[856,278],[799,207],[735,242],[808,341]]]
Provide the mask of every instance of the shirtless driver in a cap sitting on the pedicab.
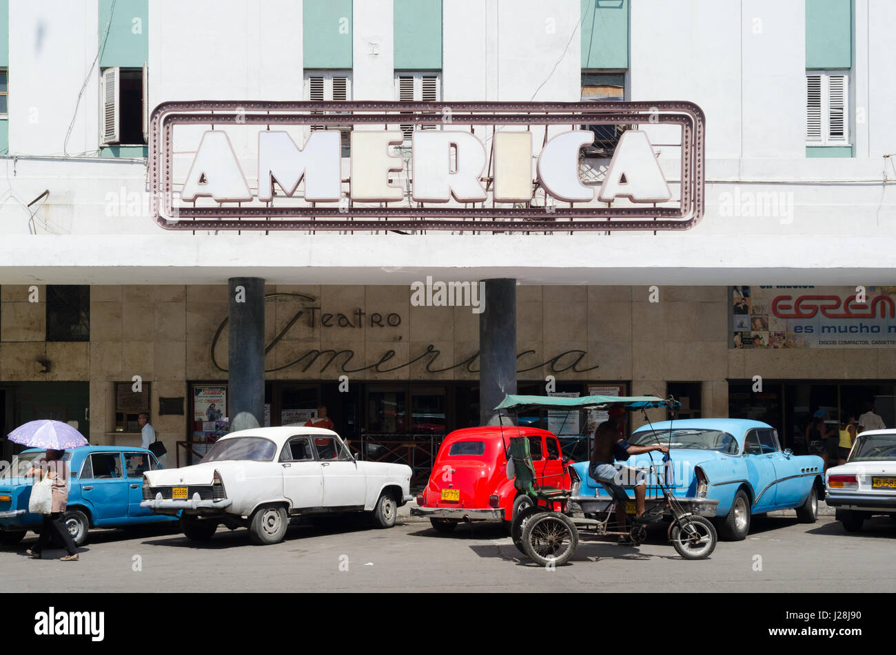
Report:
[[[619,532],[627,532],[625,520],[625,503],[628,495],[621,484],[622,469],[633,472],[634,469],[622,464],[614,464],[615,460],[625,461],[629,455],[642,455],[653,450],[660,453],[668,453],[665,446],[632,446],[625,438],[625,421],[628,413],[622,405],[615,404],[609,408],[609,419],[598,426],[594,433],[594,450],[591,452],[591,462],[588,467],[590,476],[607,489],[607,493],[616,499],[616,523],[619,524]],[[644,514],[644,497],[647,495],[647,485],[643,476],[636,481],[634,487],[635,523]],[[620,537],[619,543],[631,543],[628,536]]]

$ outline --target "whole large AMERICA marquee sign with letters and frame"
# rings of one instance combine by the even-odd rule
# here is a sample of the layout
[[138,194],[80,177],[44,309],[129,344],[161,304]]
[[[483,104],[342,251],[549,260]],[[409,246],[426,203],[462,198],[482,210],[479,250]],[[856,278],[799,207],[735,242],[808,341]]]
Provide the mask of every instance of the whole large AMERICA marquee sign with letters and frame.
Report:
[[[582,158],[607,126],[612,157]],[[175,230],[681,230],[703,131],[688,102],[170,102],[152,210]]]

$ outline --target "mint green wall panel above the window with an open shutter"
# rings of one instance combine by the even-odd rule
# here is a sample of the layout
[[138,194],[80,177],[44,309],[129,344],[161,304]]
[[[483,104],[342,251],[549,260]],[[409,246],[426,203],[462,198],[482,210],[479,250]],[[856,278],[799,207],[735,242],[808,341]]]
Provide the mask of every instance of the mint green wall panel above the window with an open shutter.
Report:
[[[123,68],[142,68],[150,58],[150,41],[147,34],[149,28],[149,0],[116,0],[115,15],[109,22],[112,11],[112,0],[99,0],[99,40],[102,48],[99,54],[99,67],[122,66]],[[108,34],[106,25],[108,24]],[[103,36],[106,40],[103,41]]]

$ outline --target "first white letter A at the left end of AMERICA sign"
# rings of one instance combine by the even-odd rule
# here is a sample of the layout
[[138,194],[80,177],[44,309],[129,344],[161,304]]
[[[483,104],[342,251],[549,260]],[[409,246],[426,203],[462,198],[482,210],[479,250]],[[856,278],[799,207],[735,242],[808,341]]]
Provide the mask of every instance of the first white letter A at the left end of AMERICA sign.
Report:
[[202,134],[180,194],[181,200],[187,202],[200,196],[211,196],[218,202],[252,200],[252,191],[249,191],[228,135],[220,130]]

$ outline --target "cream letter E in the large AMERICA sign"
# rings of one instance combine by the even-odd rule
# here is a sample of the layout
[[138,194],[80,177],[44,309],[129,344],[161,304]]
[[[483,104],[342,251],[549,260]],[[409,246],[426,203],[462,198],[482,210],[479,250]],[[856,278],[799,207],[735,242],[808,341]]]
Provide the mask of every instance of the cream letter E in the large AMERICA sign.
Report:
[[401,186],[389,183],[389,174],[404,168],[401,157],[389,154],[389,145],[401,145],[401,130],[351,132],[351,200],[388,202],[401,200]]

